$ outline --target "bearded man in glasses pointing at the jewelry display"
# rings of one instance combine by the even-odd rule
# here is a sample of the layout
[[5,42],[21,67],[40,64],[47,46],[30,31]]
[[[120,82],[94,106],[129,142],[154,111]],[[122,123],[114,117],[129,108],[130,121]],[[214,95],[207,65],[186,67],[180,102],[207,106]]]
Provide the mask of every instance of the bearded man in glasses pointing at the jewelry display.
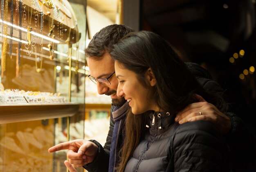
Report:
[[[114,24],[107,26],[94,35],[88,48],[85,49],[85,55],[90,69],[89,78],[97,84],[99,94],[106,94],[112,98],[110,130],[104,148],[95,140],[86,141],[82,139],[61,143],[49,148],[49,152],[68,149],[67,157],[74,167],[83,166],[89,172],[114,171],[115,159],[117,158],[116,151],[120,148],[123,140],[120,130],[116,130],[116,127],[125,124],[125,119],[122,124],[115,124],[112,111],[119,113],[126,100],[116,95],[118,81],[115,76],[114,61],[110,57],[110,52],[113,45],[116,44],[121,37],[132,31],[131,28],[124,25]],[[216,91],[220,88],[218,83],[205,76],[205,71],[202,67],[193,63],[188,63],[187,65],[205,89]],[[227,113],[226,115],[221,113],[215,106],[206,102],[200,96],[198,97],[198,101],[199,102],[193,103],[181,111],[175,120],[180,124],[195,120],[211,121],[225,136],[231,148],[231,155],[234,157],[234,159],[231,160],[233,171],[246,169],[247,161],[243,161],[243,159],[240,158],[241,155],[246,155],[246,150],[239,146],[242,144],[245,148],[253,149],[254,137],[248,132],[243,121],[233,113]],[[245,142],[239,140],[240,137],[243,138]],[[65,165],[73,171],[74,169],[72,169],[73,167],[70,163],[65,161]],[[241,165],[242,168],[239,168],[239,165]]]

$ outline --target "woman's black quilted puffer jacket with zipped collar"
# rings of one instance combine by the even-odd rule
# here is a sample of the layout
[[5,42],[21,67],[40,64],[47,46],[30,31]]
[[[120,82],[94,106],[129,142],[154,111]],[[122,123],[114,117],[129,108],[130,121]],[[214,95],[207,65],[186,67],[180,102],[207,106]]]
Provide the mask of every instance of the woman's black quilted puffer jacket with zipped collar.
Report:
[[174,118],[175,114],[164,112],[150,114],[150,128],[125,172],[228,171],[226,144],[213,124],[196,121],[179,125]]

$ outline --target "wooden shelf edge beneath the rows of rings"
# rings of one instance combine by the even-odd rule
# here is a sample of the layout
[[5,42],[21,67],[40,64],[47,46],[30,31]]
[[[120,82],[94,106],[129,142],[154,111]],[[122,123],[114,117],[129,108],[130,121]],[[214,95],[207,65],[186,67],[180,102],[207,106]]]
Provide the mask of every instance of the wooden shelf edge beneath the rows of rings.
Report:
[[0,105],[0,124],[63,118],[78,111],[79,104],[73,103]]

